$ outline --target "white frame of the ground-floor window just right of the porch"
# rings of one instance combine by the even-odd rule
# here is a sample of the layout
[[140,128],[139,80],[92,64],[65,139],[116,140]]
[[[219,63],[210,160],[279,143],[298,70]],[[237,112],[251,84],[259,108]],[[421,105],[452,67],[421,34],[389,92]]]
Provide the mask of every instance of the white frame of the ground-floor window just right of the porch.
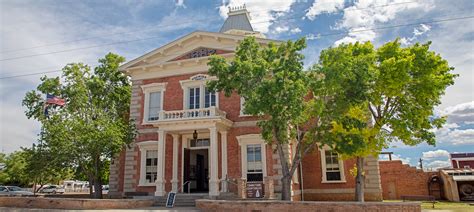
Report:
[[240,159],[242,164],[242,178],[247,179],[247,145],[260,144],[262,150],[262,173],[263,177],[267,176],[267,149],[265,141],[260,134],[247,134],[237,136],[240,146]]

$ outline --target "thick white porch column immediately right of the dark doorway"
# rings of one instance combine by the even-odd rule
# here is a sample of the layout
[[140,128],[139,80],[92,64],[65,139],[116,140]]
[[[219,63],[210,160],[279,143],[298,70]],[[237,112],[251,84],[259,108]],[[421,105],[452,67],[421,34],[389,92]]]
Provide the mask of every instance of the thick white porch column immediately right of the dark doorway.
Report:
[[217,178],[218,152],[217,152],[217,129],[215,127],[209,128],[210,147],[209,160],[210,164],[210,179],[209,179],[209,196],[219,196],[219,179]]

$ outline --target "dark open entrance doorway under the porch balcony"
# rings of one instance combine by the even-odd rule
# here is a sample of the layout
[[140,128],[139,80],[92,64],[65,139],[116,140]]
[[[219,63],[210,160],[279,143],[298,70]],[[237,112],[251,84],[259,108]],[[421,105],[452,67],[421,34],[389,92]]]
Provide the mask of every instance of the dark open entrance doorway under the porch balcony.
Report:
[[183,192],[209,192],[209,149],[184,149],[183,180],[190,183],[184,186]]

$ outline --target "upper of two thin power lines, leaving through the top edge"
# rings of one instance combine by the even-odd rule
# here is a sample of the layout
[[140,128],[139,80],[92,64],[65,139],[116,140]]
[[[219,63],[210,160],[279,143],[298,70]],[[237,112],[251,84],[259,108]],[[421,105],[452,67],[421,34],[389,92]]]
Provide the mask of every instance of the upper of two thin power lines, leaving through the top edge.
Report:
[[[384,4],[384,5],[375,5],[375,6],[372,6],[372,7],[365,7],[365,8],[348,8],[348,9],[346,9],[346,11],[366,10],[366,9],[372,9],[372,8],[378,8],[378,7],[389,7],[389,6],[396,6],[396,5],[402,5],[402,4],[411,4],[411,3],[416,3],[416,2],[418,2],[418,1],[419,1],[419,0],[407,1],[407,2],[398,2],[398,3],[392,3],[392,4]],[[328,3],[323,3],[323,4],[328,4]],[[277,7],[277,8],[278,8],[278,7]],[[283,9],[283,8],[286,8],[286,7],[281,7],[281,8],[279,8],[279,9]],[[273,9],[273,10],[275,10],[275,9]],[[258,12],[262,12],[262,11],[267,11],[267,10],[254,10],[254,11],[252,11],[252,13],[258,13]],[[291,20],[291,19],[297,19],[297,18],[281,19],[281,20]],[[68,41],[62,41],[62,42],[56,42],[56,43],[49,43],[49,44],[38,45],[38,46],[33,46],[33,47],[26,47],[26,48],[21,48],[21,49],[7,50],[7,51],[2,51],[2,52],[0,52],[0,53],[1,53],[1,54],[4,54],[4,53],[19,52],[19,51],[25,51],[25,50],[30,50],[30,49],[37,49],[37,48],[49,47],[49,46],[57,46],[57,45],[60,45],[60,44],[73,43],[73,42],[80,42],[80,41],[85,41],[85,40],[91,40],[91,39],[94,39],[94,38],[103,38],[103,37],[105,37],[105,36],[135,34],[135,33],[138,33],[138,32],[152,31],[152,30],[162,29],[162,28],[167,28],[167,27],[185,26],[186,24],[199,23],[199,22],[208,21],[208,20],[209,20],[209,19],[207,18],[207,19],[200,19],[200,20],[198,19],[198,20],[193,20],[193,21],[181,22],[181,24],[165,24],[165,25],[158,24],[158,25],[154,25],[154,26],[151,26],[150,28],[142,29],[142,30],[125,31],[125,32],[120,32],[120,33],[108,33],[108,34],[102,34],[102,35],[97,35],[97,36],[84,37],[84,38],[75,39],[75,40],[68,40]],[[256,23],[265,23],[265,22],[269,22],[269,21],[253,22],[253,23],[256,24]],[[7,59],[8,59],[8,58],[7,58]],[[16,59],[16,58],[15,58],[15,59]],[[19,59],[19,58],[18,58],[18,59]],[[3,60],[0,60],[0,61],[3,61]]]

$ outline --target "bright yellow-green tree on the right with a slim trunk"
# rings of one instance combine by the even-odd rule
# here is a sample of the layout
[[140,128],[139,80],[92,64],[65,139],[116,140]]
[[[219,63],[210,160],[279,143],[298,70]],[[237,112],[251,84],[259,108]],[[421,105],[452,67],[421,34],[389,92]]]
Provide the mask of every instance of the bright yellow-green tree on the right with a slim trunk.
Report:
[[311,89],[324,101],[317,139],[344,157],[357,158],[356,200],[364,201],[364,157],[376,156],[390,141],[435,145],[433,128],[453,70],[430,42],[401,47],[399,40],[375,49],[370,42],[323,50],[313,66]]

